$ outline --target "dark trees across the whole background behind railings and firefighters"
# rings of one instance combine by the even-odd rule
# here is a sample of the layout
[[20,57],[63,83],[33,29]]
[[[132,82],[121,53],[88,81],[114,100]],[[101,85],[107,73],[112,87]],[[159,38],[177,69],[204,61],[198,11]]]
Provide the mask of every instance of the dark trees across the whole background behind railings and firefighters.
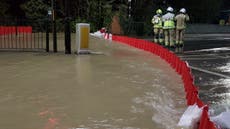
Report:
[[[65,0],[54,0],[57,7],[57,19],[65,17]],[[161,8],[165,13],[168,6],[172,6],[175,13],[182,7],[187,9],[192,23],[213,23],[218,21],[219,12],[222,9],[229,9],[229,0],[132,0],[131,17],[127,17],[128,0],[70,0],[72,30],[75,31],[76,22],[87,22],[91,25],[91,30],[96,31],[101,27],[110,28],[112,17],[119,15],[120,24],[125,34],[151,33],[151,18],[155,10]],[[51,6],[50,0],[0,0],[0,14],[11,15],[16,11],[14,3],[17,2],[28,19],[44,19],[47,16],[48,7]],[[207,5],[212,6],[207,6]],[[19,13],[13,13],[19,14]],[[63,21],[58,21],[59,28],[62,28]]]

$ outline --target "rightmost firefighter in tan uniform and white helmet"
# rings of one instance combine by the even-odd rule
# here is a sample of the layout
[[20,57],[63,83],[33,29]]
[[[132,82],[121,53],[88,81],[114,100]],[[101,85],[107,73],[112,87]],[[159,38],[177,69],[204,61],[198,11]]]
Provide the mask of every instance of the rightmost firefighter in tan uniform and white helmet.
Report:
[[176,21],[176,52],[183,53],[184,47],[184,31],[189,16],[186,14],[185,8],[181,8],[179,14],[175,17]]

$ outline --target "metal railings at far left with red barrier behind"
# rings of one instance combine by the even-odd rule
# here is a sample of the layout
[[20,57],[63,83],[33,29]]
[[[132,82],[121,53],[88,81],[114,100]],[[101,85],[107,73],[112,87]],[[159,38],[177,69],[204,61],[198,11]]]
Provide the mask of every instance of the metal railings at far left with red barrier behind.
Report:
[[46,20],[0,19],[0,51],[45,51]]

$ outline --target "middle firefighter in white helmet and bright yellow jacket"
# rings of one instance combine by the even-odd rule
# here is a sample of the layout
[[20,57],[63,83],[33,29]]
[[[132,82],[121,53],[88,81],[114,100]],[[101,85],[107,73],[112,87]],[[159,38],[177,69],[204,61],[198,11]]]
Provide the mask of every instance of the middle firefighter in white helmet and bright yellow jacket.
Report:
[[173,8],[168,7],[167,13],[162,16],[163,20],[163,30],[165,36],[165,46],[170,50],[174,50],[174,35],[175,35],[175,23],[174,23],[175,14],[173,14]]

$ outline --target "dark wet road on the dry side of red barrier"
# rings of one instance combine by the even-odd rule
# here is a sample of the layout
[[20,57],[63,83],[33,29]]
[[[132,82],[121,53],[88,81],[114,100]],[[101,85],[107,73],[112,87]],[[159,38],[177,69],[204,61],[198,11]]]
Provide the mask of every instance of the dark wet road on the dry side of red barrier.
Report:
[[230,109],[229,34],[188,37],[185,53],[179,56],[191,65],[200,98],[215,114]]

